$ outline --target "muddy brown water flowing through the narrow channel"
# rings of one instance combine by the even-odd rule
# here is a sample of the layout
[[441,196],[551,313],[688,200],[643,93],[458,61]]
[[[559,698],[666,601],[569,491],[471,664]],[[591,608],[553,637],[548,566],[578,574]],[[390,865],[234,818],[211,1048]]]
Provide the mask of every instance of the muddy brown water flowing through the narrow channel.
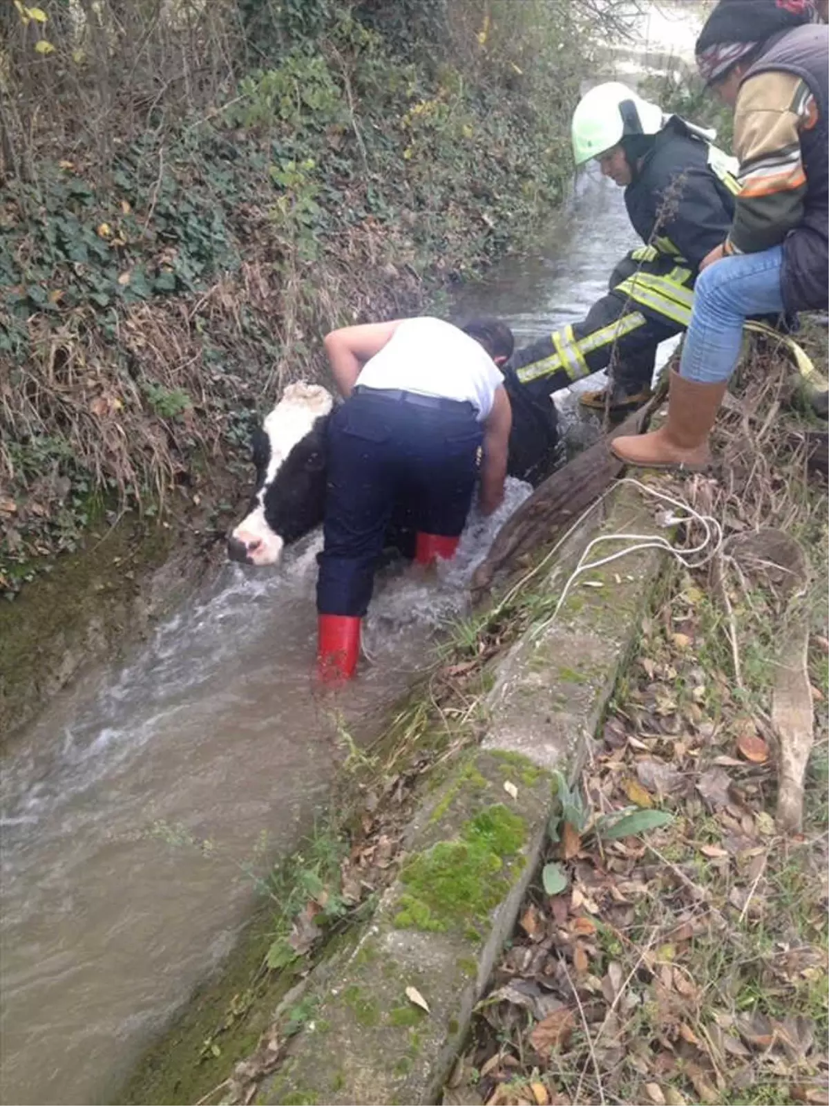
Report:
[[[632,244],[621,192],[587,174],[536,249],[466,289],[458,311],[499,314],[520,342],[537,337],[580,317]],[[558,401],[570,436],[589,437],[573,397]],[[462,612],[475,563],[527,493],[511,482],[437,581],[411,571],[380,581],[366,628],[372,664],[337,698],[360,740]],[[325,803],[340,752],[312,680],[318,547],[315,534],[275,570],[228,565],[129,664],[60,697],[8,749],[3,1106],[112,1102],[232,947],[253,897],[242,869],[263,834],[269,853],[284,852]]]

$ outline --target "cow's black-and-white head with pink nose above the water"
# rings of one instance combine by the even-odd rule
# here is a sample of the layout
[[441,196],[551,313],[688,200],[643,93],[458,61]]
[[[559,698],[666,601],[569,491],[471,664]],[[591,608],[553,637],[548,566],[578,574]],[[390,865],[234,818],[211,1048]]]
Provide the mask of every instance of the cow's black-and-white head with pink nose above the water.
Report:
[[286,544],[323,520],[325,430],[334,400],[316,384],[290,384],[253,437],[256,490],[228,540],[228,556],[276,564]]

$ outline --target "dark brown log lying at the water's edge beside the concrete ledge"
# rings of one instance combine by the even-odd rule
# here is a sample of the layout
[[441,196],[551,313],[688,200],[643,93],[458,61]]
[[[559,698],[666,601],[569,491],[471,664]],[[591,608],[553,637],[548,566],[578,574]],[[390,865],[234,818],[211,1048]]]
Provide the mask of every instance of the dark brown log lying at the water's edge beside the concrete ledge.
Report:
[[610,486],[625,466],[608,449],[608,441],[626,434],[639,434],[663,401],[664,394],[664,389],[660,389],[644,407],[538,484],[507,519],[489,554],[475,568],[471,585],[473,603],[490,591],[496,573],[541,543],[555,539]]

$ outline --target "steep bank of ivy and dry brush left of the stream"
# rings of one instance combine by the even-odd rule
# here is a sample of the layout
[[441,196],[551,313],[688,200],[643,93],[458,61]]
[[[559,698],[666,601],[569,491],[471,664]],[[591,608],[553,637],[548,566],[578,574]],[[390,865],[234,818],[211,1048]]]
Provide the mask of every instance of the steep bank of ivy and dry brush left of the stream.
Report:
[[246,472],[326,328],[439,307],[520,247],[565,195],[600,32],[581,0],[73,11],[0,12],[10,595],[91,501],[158,513]]

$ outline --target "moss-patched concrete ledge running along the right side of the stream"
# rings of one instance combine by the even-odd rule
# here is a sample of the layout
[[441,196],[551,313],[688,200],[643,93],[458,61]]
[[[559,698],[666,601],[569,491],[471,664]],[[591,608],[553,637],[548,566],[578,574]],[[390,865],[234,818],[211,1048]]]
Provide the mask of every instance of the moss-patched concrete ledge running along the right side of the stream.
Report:
[[[629,487],[609,501],[604,523],[597,512],[574,535],[550,589],[560,591],[598,532],[621,531],[655,532]],[[313,1021],[258,1106],[432,1106],[538,863],[550,770],[578,771],[661,556],[643,551],[586,574],[555,622],[501,662],[483,747],[421,802],[398,879],[357,946],[316,974]]]

